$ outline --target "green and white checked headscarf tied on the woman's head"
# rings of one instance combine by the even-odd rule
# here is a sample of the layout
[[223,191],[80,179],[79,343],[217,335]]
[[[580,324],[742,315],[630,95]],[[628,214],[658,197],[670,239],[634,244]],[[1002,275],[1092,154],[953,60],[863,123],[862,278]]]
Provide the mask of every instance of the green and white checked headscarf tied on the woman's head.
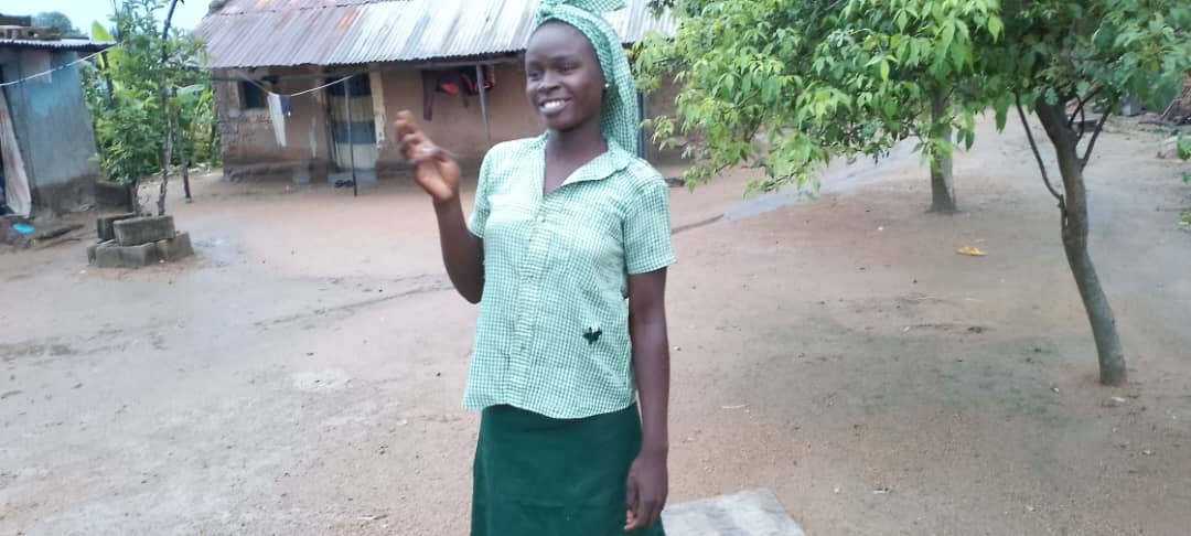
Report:
[[604,137],[616,142],[632,155],[637,154],[637,133],[641,116],[637,110],[637,87],[632,81],[629,57],[621,37],[600,13],[622,10],[624,0],[542,0],[535,30],[550,20],[559,20],[578,29],[596,49],[607,94],[600,113]]

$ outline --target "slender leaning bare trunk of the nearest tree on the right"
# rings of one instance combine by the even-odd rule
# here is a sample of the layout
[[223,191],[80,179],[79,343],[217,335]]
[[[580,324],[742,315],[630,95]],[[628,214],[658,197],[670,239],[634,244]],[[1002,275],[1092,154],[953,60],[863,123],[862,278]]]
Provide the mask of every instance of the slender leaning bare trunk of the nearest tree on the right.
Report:
[[1077,152],[1079,141],[1075,132],[1067,126],[1066,108],[1062,105],[1049,105],[1046,100],[1039,99],[1035,110],[1047,137],[1054,144],[1059,161],[1064,189],[1062,249],[1067,254],[1067,264],[1071,266],[1079,297],[1087,311],[1087,320],[1092,325],[1092,338],[1096,341],[1096,354],[1100,367],[1100,384],[1123,385],[1128,369],[1121,337],[1117,335],[1116,318],[1096,275],[1092,257],[1087,254],[1087,189],[1084,186],[1083,166]]

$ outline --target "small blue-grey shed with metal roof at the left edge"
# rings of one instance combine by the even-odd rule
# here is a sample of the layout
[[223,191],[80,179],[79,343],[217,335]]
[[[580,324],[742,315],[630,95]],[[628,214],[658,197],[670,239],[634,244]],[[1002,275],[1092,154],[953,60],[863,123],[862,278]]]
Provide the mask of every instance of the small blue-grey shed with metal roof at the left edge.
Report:
[[0,15],[0,212],[89,206],[100,176],[77,62],[112,43],[62,39]]

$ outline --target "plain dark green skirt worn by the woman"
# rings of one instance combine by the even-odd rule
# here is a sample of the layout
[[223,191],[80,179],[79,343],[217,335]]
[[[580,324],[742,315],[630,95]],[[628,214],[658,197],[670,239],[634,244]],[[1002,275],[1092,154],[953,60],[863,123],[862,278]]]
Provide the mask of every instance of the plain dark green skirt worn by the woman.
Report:
[[637,406],[553,419],[484,410],[475,449],[472,536],[663,536],[625,532],[625,480],[641,450]]

